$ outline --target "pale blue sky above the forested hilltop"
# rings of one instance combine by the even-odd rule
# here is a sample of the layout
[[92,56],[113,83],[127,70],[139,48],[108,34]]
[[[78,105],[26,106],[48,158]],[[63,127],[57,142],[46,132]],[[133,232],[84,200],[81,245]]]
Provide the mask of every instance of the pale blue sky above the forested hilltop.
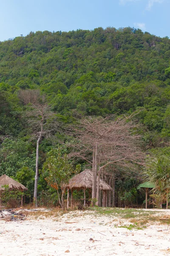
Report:
[[0,41],[31,31],[136,27],[170,37],[170,0],[0,0]]

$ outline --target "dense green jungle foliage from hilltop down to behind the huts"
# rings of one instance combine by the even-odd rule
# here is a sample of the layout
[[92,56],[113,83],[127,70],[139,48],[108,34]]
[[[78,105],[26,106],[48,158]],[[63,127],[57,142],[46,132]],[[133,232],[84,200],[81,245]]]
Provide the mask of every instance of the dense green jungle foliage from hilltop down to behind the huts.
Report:
[[[0,42],[0,175],[6,174],[34,190],[36,140],[23,113],[22,90],[40,90],[51,110],[64,123],[77,113],[136,116],[143,150],[170,154],[170,39],[140,29],[96,28],[92,31],[30,32]],[[40,143],[39,200],[55,204],[57,193],[47,185],[43,164],[68,136],[56,133]],[[65,147],[66,148],[66,147]],[[63,149],[67,153],[67,149]],[[85,166],[75,161],[73,166]],[[141,182],[141,181],[140,181]],[[121,175],[116,180],[119,201],[136,201],[139,180]],[[48,200],[47,200],[48,198]],[[144,198],[143,198],[144,199]],[[142,199],[142,200],[143,200]]]

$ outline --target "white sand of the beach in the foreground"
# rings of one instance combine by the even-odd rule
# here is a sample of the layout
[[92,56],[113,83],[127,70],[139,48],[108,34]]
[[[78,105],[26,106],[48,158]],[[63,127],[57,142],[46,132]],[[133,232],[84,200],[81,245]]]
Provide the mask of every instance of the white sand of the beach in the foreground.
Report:
[[[170,211],[160,211],[159,214],[170,215]],[[42,216],[39,219],[29,216],[25,221],[0,220],[0,255],[170,255],[168,225],[147,224],[144,230],[115,226],[125,224],[130,222],[87,214],[87,211],[69,212],[57,220],[42,219]],[[76,231],[77,228],[80,230]],[[90,241],[91,238],[94,240]],[[66,253],[66,250],[70,252]]]

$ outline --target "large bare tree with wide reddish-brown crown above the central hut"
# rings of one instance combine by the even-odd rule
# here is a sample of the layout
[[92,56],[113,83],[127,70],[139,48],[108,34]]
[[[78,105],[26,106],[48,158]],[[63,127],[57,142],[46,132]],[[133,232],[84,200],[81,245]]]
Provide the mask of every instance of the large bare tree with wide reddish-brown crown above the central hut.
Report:
[[130,118],[86,117],[72,129],[77,140],[70,157],[80,157],[92,166],[92,198],[97,198],[98,202],[99,178],[106,166],[132,168],[133,164],[144,164],[139,148],[140,136],[136,134],[136,124]]

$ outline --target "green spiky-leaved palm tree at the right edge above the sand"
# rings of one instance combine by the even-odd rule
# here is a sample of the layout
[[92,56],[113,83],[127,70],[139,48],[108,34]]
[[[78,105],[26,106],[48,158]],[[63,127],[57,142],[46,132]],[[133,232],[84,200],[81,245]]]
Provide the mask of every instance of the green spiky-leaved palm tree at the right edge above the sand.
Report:
[[153,195],[159,195],[162,201],[168,201],[170,197],[170,157],[158,156],[147,161],[145,171],[146,180],[155,183]]

